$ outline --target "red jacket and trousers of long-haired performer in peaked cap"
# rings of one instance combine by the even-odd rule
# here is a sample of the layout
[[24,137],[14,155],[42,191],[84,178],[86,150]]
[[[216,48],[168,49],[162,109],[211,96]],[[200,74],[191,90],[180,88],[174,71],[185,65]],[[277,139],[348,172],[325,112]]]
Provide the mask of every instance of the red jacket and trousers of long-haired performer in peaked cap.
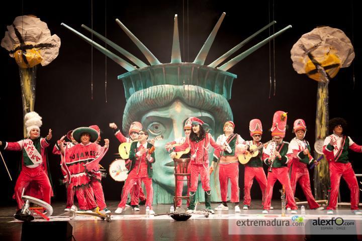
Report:
[[211,134],[206,133],[206,136],[200,141],[191,141],[190,137],[180,146],[175,147],[175,152],[184,151],[190,147],[191,152],[191,184],[190,192],[196,192],[201,175],[201,183],[204,191],[210,191],[210,174],[209,174],[209,148],[210,145],[218,151],[221,147],[216,144]]

